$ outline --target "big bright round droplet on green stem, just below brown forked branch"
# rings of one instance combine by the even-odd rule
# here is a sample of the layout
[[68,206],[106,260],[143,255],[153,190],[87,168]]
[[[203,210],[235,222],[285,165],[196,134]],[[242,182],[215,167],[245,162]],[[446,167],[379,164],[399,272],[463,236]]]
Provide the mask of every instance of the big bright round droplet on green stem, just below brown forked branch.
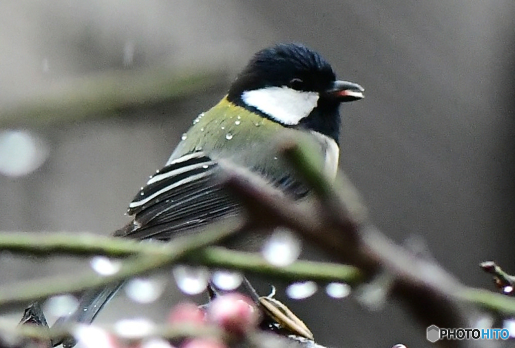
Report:
[[288,266],[295,262],[301,251],[301,242],[286,229],[276,229],[263,246],[263,257],[272,265]]

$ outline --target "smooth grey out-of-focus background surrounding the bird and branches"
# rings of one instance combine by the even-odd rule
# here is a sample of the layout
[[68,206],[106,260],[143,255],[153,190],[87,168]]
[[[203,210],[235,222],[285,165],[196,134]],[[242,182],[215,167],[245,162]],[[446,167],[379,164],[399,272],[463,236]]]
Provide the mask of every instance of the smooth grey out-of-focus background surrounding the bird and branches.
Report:
[[[514,18],[512,0],[1,2],[0,130],[30,131],[48,157],[27,175],[0,176],[0,229],[108,235],[121,227],[138,188],[250,56],[296,41],[366,89],[363,101],[341,109],[340,168],[373,221],[398,242],[423,238],[465,284],[492,288],[480,261],[515,272]],[[88,102],[59,109],[59,96],[84,81],[157,67],[210,77],[196,92],[109,112],[90,112]],[[57,107],[33,109],[46,102]],[[85,264],[15,261],[0,255],[0,283]],[[371,312],[323,291],[278,298],[322,344],[430,346],[397,303]],[[99,319],[123,308],[162,320],[169,308],[128,304],[122,294]]]

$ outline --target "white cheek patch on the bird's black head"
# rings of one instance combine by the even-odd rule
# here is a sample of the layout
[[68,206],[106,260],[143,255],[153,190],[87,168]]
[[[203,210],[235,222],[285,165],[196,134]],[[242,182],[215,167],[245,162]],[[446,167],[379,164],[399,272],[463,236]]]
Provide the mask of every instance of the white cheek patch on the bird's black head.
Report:
[[316,92],[297,91],[286,86],[245,91],[242,100],[283,125],[297,125],[317,107]]

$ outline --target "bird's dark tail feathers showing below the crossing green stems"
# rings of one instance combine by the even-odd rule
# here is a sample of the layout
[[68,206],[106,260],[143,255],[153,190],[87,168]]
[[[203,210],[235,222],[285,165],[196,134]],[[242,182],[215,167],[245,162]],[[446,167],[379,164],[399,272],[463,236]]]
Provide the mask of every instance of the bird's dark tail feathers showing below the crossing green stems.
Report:
[[[52,328],[70,323],[90,324],[102,307],[112,299],[114,294],[124,283],[113,284],[102,289],[88,290],[82,295],[77,310],[68,317],[59,318]],[[68,337],[59,342],[52,342],[54,346],[61,344],[64,348],[73,347],[77,341],[73,337]]]

